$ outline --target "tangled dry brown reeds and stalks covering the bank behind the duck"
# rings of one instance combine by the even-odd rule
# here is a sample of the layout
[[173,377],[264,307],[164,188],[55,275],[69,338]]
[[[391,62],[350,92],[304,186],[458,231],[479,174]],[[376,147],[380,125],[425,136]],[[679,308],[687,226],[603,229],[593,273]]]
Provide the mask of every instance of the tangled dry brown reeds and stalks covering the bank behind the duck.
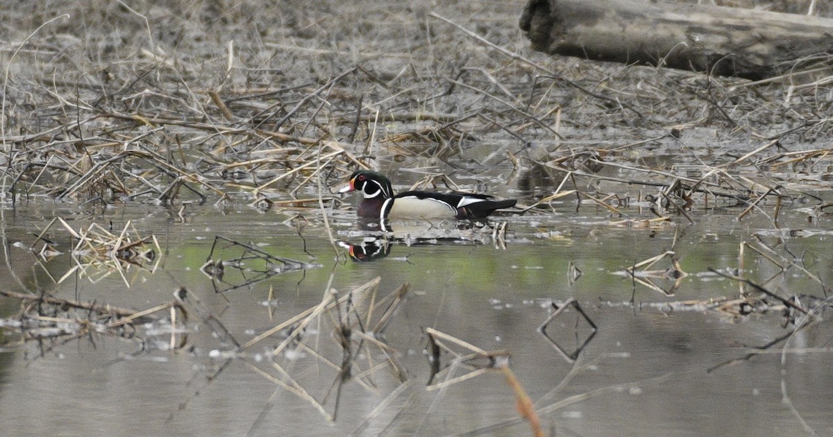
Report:
[[[507,175],[535,163],[557,178],[521,177],[531,201],[562,172],[606,166],[743,200],[821,182],[826,70],[751,83],[544,57],[517,28],[521,7],[16,2],[0,12],[4,190],[317,207],[355,166]],[[668,153],[674,168],[646,157]]]

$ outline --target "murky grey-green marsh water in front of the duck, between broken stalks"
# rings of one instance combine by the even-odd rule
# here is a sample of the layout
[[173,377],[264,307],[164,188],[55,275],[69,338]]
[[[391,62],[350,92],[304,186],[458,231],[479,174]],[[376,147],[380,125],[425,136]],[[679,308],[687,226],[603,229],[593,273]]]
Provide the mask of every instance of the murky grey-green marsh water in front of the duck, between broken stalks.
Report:
[[[517,416],[514,394],[497,370],[426,390],[431,375],[424,353],[427,327],[484,350],[508,351],[511,370],[536,408],[542,409],[545,432],[553,435],[833,433],[829,322],[793,337],[792,352],[782,355],[781,344],[739,360],[751,351],[746,346],[764,345],[788,332],[780,311],[733,317],[693,304],[736,295],[736,283],[716,277],[708,268],[735,267],[740,241],[770,229],[761,217],[738,222],[736,211],[726,211],[700,216],[696,224],[627,227],[606,224],[610,219],[605,211],[582,207],[579,214],[546,220],[506,217],[510,225],[505,249],[496,248],[491,233],[483,231],[485,244],[436,241],[408,246],[399,241],[387,257],[357,262],[345,260],[347,249],[341,246],[341,259],[335,260],[336,251],[320,221],[310,221],[299,236],[297,228],[282,224],[288,216],[275,211],[204,207],[181,223],[155,207],[132,207],[108,211],[105,220],[112,220],[116,229],[132,220],[137,229],[152,232],[163,250],[154,273],[127,271],[127,288],[117,274],[95,284],[79,277],[54,285],[49,276],[57,278],[67,271],[72,265],[68,256],[33,267],[35,260],[23,247],[42,226],[39,216],[56,213],[6,211],[7,253],[24,283],[37,282],[62,298],[133,309],[170,301],[172,292],[185,286],[240,343],[318,305],[328,283],[343,293],[379,276],[381,298],[407,282],[408,300],[392,318],[384,340],[408,382],[388,398],[400,383],[389,369],[377,370],[369,379],[372,385],[346,380],[336,395],[338,371],[310,350],[276,357],[275,362],[322,402],[327,413],[337,413],[330,422],[302,396],[264,376],[274,369],[265,364],[268,351],[284,337],[275,335],[254,346],[245,359],[224,360],[218,354],[229,347],[192,315],[186,343],[174,351],[165,350],[164,331],[148,331],[147,351],[138,340],[97,334],[40,345],[30,341],[4,350],[0,415],[7,435],[445,435],[477,430],[485,435],[527,435],[529,426],[523,421],[484,430]],[[77,216],[70,222],[81,227],[90,219]],[[806,225],[798,213],[781,220],[782,226]],[[337,239],[362,241],[349,214],[339,212],[331,221]],[[830,229],[829,223],[816,226]],[[216,235],[321,267],[217,293],[199,271]],[[67,246],[68,237],[53,238]],[[635,286],[630,278],[614,274],[671,249],[675,239],[681,268],[688,273],[676,295]],[[828,240],[822,231],[786,241],[793,253],[816,256],[829,267]],[[17,241],[23,244],[15,245]],[[574,283],[568,280],[570,262],[581,270]],[[747,262],[748,277],[755,281],[776,273],[760,256],[750,256]],[[656,268],[669,266],[661,263]],[[814,271],[825,283],[833,279],[829,268]],[[13,284],[9,271],[3,276],[5,284]],[[240,277],[227,271],[224,279]],[[670,282],[660,281],[661,286]],[[796,271],[768,286],[787,295],[821,295]],[[598,327],[576,364],[536,331],[551,315],[552,301],[570,298]],[[684,301],[691,302],[681,304]],[[17,309],[16,300],[2,301],[4,317]],[[332,340],[332,325],[323,319],[307,329],[305,341],[340,363],[342,352]],[[570,349],[581,344],[590,328],[571,308],[553,320],[547,332]],[[370,367],[367,351],[377,364],[386,358],[381,349],[362,350],[355,357],[361,365],[354,366],[354,374]],[[452,358],[442,360],[446,366]],[[738,361],[714,369],[732,360]],[[457,369],[451,377],[466,371]],[[274,378],[286,380],[280,373]],[[372,413],[386,399],[387,404]]]

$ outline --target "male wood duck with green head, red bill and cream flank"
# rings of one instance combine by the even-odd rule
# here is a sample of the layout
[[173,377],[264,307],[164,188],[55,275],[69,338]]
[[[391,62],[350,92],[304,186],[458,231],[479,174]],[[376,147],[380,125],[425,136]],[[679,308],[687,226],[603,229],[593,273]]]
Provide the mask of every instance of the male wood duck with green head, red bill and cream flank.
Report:
[[485,194],[459,191],[406,191],[394,195],[386,176],[367,170],[353,172],[350,185],[338,192],[348,191],[362,191],[358,216],[380,221],[385,231],[386,219],[479,219],[516,203],[514,199],[495,201]]

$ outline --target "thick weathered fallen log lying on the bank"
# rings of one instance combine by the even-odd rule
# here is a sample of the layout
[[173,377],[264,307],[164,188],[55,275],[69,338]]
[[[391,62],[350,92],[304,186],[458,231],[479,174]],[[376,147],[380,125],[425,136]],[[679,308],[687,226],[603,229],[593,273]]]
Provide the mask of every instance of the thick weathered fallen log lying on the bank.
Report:
[[753,80],[833,59],[833,19],[735,7],[529,0],[520,25],[539,52]]

